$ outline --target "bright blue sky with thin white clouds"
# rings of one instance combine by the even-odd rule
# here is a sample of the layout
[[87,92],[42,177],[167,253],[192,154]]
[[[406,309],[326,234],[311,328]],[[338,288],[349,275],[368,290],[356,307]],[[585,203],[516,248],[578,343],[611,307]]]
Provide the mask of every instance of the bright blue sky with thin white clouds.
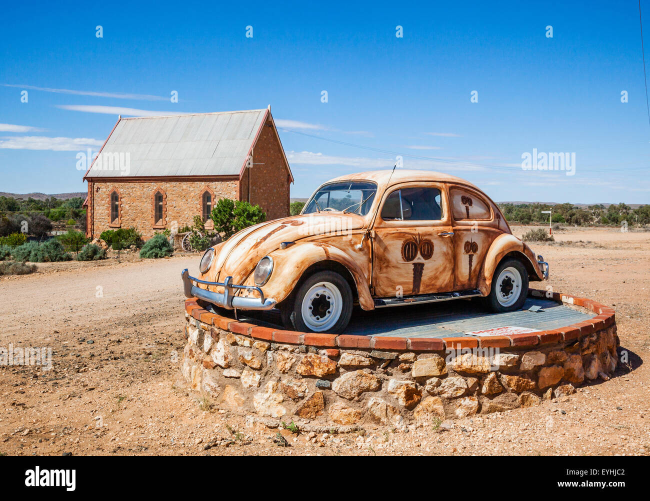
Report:
[[[120,112],[268,104],[294,197],[402,155],[497,201],[650,203],[635,1],[3,6],[0,191],[84,191],[76,155]],[[575,175],[523,170],[533,149],[575,153]]]

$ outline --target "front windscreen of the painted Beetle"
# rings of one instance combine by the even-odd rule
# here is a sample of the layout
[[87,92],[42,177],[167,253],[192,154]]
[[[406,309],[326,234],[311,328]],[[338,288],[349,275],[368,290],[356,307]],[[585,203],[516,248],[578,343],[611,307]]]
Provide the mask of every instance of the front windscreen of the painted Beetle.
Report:
[[321,186],[305,204],[303,214],[328,210],[365,216],[372,206],[377,185],[370,181],[338,181]]

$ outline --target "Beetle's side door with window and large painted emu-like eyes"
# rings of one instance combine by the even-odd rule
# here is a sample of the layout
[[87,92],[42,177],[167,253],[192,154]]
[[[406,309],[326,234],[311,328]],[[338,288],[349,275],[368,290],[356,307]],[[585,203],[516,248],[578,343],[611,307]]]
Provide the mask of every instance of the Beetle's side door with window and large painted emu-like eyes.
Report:
[[386,190],[374,222],[372,291],[401,298],[454,287],[454,236],[443,183]]

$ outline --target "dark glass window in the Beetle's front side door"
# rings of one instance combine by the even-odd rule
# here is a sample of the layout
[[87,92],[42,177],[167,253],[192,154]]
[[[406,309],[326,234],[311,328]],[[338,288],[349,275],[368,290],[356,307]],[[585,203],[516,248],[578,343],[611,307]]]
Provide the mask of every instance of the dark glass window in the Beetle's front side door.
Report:
[[383,203],[383,220],[439,221],[442,218],[441,193],[438,188],[400,188],[392,192]]

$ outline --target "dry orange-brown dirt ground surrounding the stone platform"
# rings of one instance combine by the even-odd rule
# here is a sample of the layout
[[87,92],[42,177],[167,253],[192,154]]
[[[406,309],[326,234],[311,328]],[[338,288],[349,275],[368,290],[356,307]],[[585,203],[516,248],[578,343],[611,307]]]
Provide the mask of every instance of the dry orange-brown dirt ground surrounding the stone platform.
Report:
[[[53,361],[0,366],[0,454],[649,454],[650,233],[556,238],[533,246],[551,264],[543,286],[614,305],[629,363],[563,400],[454,420],[451,430],[295,435],[187,391],[180,271],[196,271],[198,256],[0,277],[0,347],[51,347]],[[274,443],[278,431],[289,447]]]

